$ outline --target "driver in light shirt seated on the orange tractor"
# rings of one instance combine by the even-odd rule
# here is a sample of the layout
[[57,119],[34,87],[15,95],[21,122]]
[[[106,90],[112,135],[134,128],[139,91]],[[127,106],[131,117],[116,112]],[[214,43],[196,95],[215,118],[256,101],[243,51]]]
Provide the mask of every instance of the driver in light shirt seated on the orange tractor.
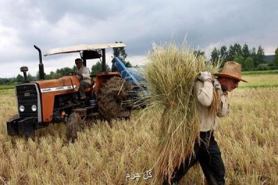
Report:
[[88,67],[83,66],[80,58],[76,58],[75,64],[77,67],[77,77],[80,81],[79,96],[81,100],[86,98],[84,89],[91,87],[90,71]]

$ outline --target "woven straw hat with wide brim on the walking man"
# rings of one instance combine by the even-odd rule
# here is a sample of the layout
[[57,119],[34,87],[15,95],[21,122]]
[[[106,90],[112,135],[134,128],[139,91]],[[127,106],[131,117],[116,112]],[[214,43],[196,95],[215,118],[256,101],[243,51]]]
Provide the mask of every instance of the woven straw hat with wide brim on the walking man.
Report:
[[221,73],[214,73],[214,76],[221,76],[226,78],[233,78],[243,82],[247,82],[241,78],[241,65],[237,62],[228,61],[225,62]]

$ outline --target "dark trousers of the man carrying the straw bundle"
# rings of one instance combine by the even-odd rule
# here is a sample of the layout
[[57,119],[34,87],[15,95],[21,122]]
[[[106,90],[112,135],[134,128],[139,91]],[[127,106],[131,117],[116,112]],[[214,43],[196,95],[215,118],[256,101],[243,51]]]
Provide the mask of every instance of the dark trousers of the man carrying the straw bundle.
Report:
[[[178,184],[181,178],[186,175],[189,168],[199,161],[204,176],[208,184],[224,184],[225,168],[221,157],[221,152],[216,143],[213,132],[200,132],[201,143],[196,141],[194,146],[195,156],[181,164],[179,168],[175,168],[172,173],[171,184]],[[165,178],[163,184],[168,184]]]

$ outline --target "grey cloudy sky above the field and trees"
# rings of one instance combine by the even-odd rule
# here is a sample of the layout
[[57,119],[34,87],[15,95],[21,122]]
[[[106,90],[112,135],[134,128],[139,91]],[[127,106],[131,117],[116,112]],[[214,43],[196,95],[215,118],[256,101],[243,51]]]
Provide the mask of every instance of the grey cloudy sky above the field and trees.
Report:
[[[261,45],[265,54],[273,54],[278,46],[278,1],[1,0],[0,78],[17,76],[22,66],[35,75],[34,44],[44,53],[74,44],[122,41],[131,64],[140,64],[147,61],[152,42],[174,39],[180,44],[186,35],[188,44],[204,50],[207,58],[213,47],[236,42]],[[44,71],[72,67],[78,56],[47,56],[42,59]]]

